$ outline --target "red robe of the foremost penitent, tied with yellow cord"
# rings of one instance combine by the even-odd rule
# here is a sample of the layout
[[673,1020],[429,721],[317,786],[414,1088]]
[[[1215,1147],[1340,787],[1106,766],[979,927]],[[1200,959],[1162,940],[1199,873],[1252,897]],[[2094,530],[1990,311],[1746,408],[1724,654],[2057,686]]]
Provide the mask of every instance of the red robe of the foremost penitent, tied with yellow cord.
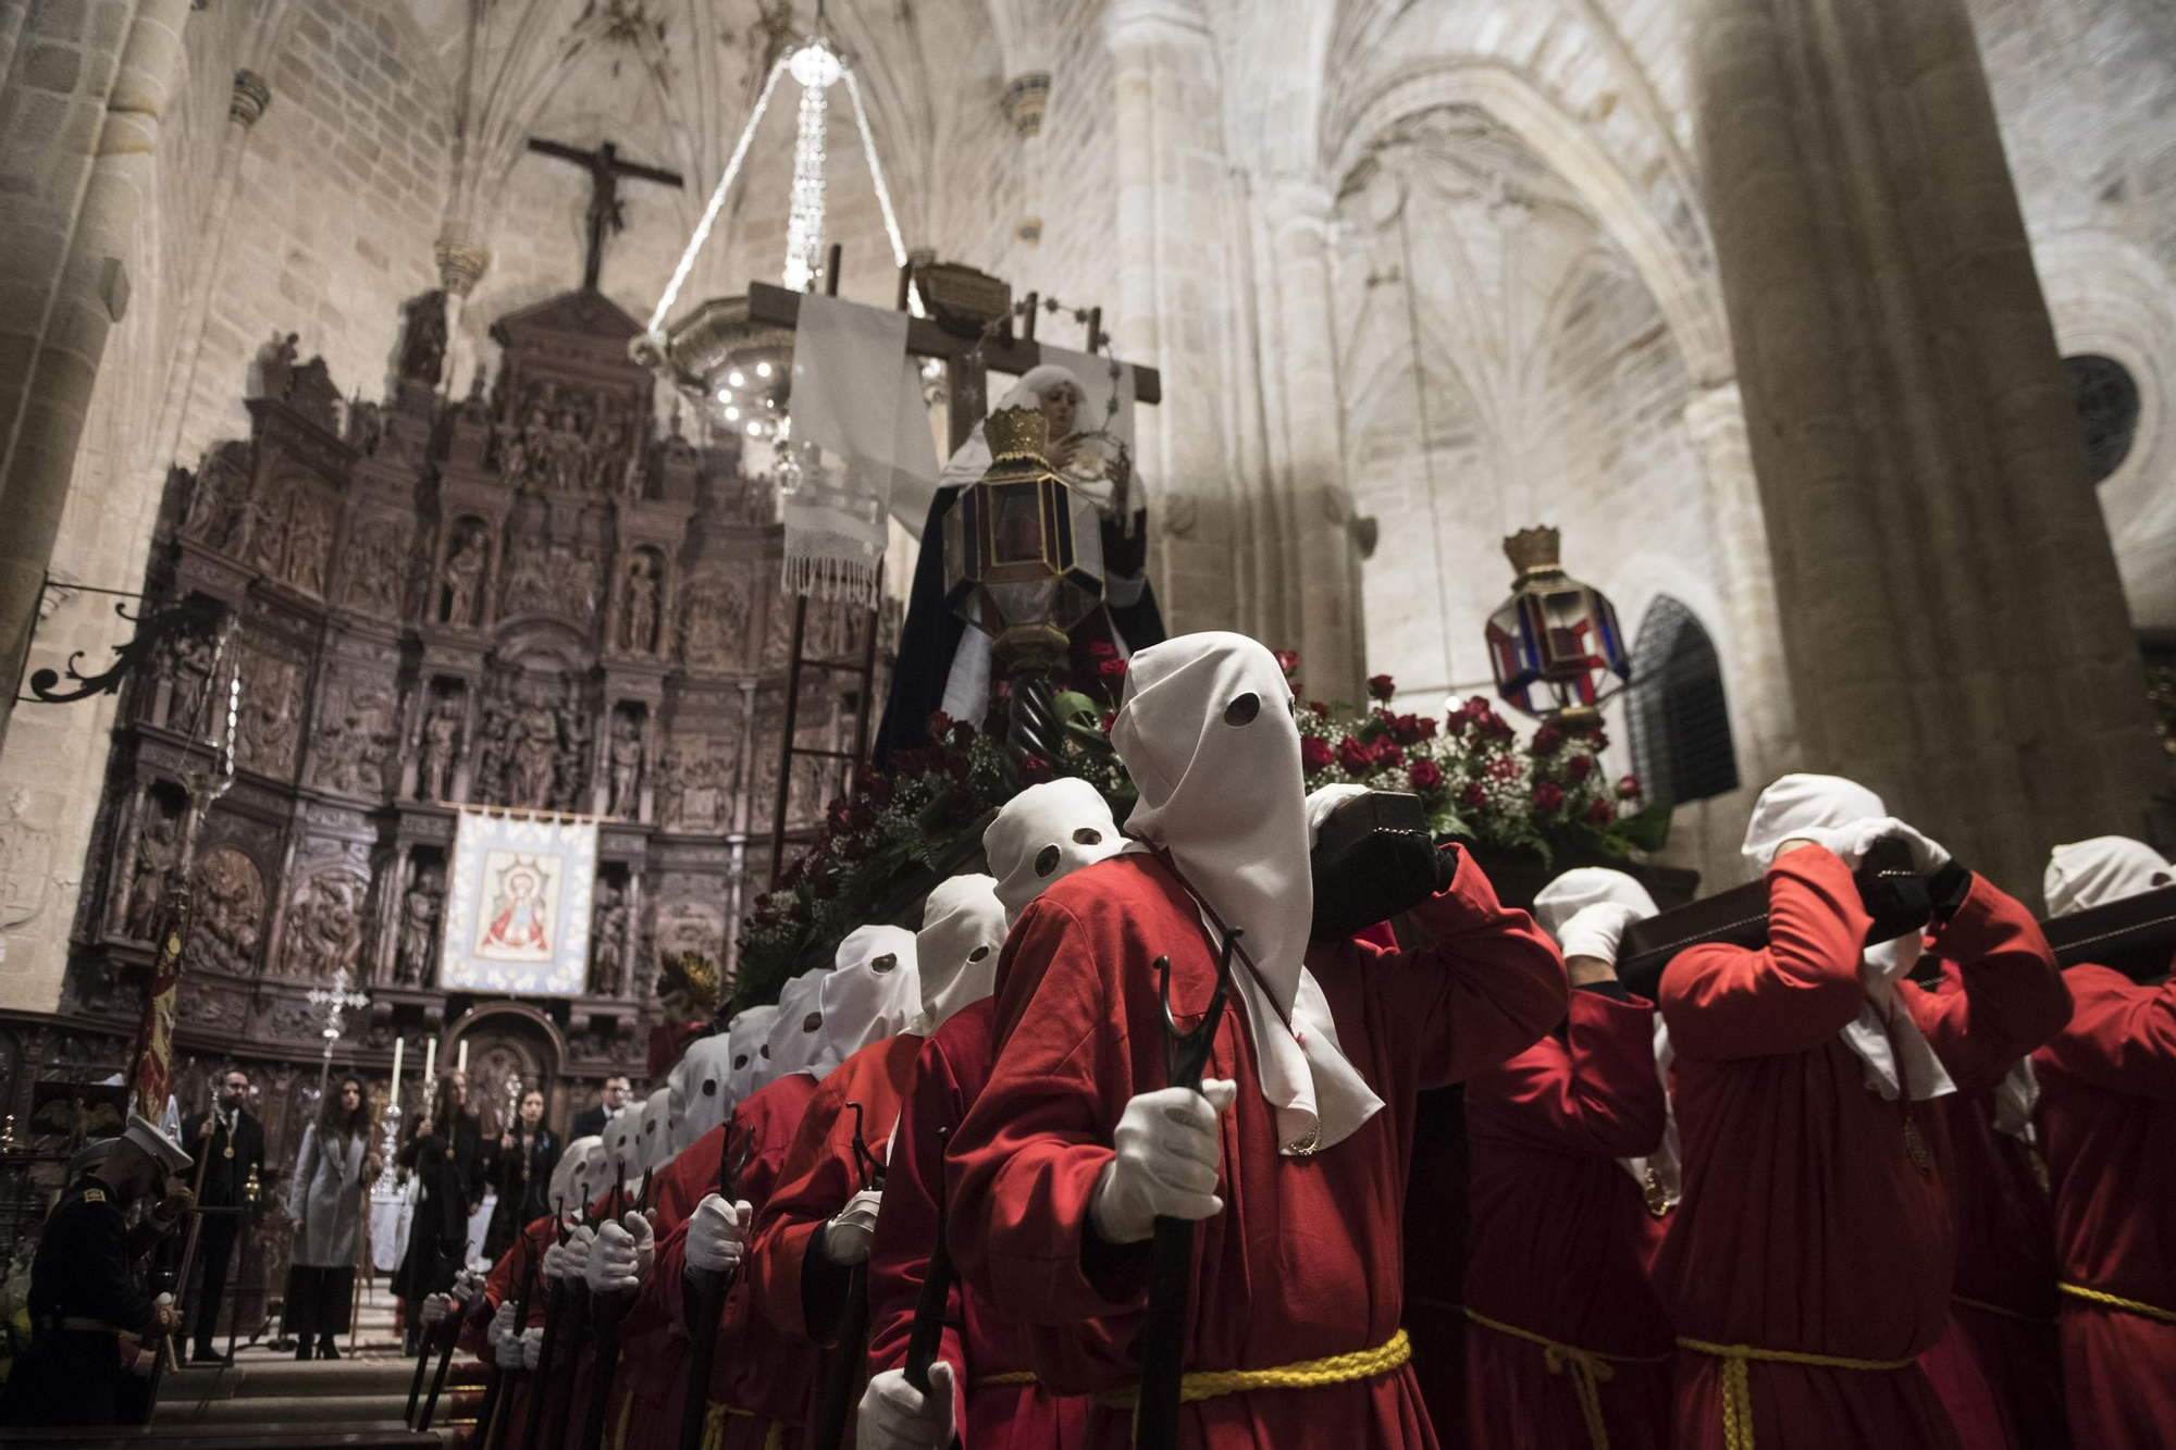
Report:
[[[1192,1372],[1386,1345],[1399,1330],[1414,1095],[1501,1062],[1565,1015],[1556,947],[1497,904],[1471,858],[1412,919],[1432,938],[1421,951],[1308,951],[1345,1058],[1384,1099],[1343,1143],[1279,1154],[1240,1008],[1216,1028],[1206,1076],[1238,1082],[1238,1099],[1219,1121],[1225,1208],[1195,1226]],[[1149,1245],[1101,1243],[1088,1202],[1125,1104],[1166,1086],[1162,954],[1171,1010],[1190,1021],[1216,988],[1216,956],[1195,901],[1151,856],[1088,867],[1038,897],[999,960],[997,1071],[951,1152],[953,1254],[968,1287],[1025,1326],[1055,1393],[1125,1391],[1140,1376]],[[1118,1450],[1127,1424],[1125,1409],[1097,1406],[1090,1443]],[[1182,1404],[1179,1443],[1432,1450],[1436,1437],[1406,1365]]]

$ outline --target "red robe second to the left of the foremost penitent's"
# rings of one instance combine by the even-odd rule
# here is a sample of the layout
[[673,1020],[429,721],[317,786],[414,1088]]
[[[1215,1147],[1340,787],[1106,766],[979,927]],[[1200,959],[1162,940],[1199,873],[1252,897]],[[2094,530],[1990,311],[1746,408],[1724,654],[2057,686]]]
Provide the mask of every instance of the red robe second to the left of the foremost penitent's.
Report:
[[[801,1293],[803,1269],[816,1245],[816,1234],[864,1187],[862,1165],[853,1152],[855,1121],[846,1104],[862,1104],[862,1139],[881,1165],[920,1049],[920,1036],[888,1036],[840,1062],[816,1086],[816,1097],[801,1115],[801,1132],[794,1134],[794,1145],[786,1152],[786,1165],[779,1169],[779,1187],[762,1217],[755,1219],[749,1287],[755,1293],[757,1311],[786,1335],[796,1335],[825,1350],[823,1365],[809,1383],[803,1424],[812,1424],[820,1409],[818,1400],[831,1354],[838,1352],[833,1345],[844,1306],[844,1293],[831,1304],[809,1304]],[[838,1282],[844,1289],[844,1276]],[[862,1354],[864,1350],[866,1343],[853,1352]],[[860,1396],[857,1374],[853,1402],[860,1402]],[[846,1424],[853,1424],[851,1413]]]

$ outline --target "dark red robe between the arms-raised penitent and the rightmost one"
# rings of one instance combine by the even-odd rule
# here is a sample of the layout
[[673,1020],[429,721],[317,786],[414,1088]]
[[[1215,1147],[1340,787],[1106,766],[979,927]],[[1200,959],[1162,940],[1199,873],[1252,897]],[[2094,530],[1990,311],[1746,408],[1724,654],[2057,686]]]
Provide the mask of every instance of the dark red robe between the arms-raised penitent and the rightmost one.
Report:
[[[1945,962],[1934,993],[1963,991],[1958,969]],[[2065,1450],[2069,1428],[2063,1417],[2063,1348],[2054,1328],[2054,1211],[2032,1147],[1995,1128],[1993,1089],[2008,1069],[2008,1062],[1956,1062],[1950,1071],[1956,1093],[1934,1099],[1945,1145],[1941,1176],[1956,1234],[1950,1337],[1987,1385],[2000,1426],[1987,1443]],[[1939,1389],[1941,1369],[1934,1363],[1926,1369],[1937,1376]],[[1952,1420],[1971,1450],[1976,1439],[1954,1402]]]

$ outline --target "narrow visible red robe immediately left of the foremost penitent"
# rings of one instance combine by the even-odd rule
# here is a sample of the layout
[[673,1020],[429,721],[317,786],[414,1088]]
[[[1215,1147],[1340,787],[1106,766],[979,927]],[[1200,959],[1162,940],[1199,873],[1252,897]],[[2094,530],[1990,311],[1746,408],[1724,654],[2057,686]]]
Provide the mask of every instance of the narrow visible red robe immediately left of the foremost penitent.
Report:
[[[997,1002],[960,1008],[923,1043],[899,1110],[899,1136],[883,1180],[883,1213],[868,1250],[868,1372],[907,1363],[914,1304],[929,1276],[938,1232],[944,1158],[938,1130],[960,1132],[997,1062]],[[1060,1398],[1038,1383],[1001,1383],[1027,1374],[1018,1326],[957,1280],[944,1311],[942,1359],[953,1367],[953,1424],[960,1450],[1077,1450],[1086,1443],[1088,1404]]]

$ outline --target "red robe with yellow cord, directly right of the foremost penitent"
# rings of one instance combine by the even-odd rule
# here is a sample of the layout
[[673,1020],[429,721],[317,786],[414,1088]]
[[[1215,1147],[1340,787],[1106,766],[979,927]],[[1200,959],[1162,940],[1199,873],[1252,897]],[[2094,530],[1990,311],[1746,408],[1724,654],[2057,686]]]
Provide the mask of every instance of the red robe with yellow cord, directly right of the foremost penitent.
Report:
[[[1662,1143],[1654,1006],[1573,991],[1565,1034],[1467,1082],[1471,1230],[1467,1308],[1597,1354],[1610,1450],[1669,1443],[1669,1315],[1647,1280],[1647,1195],[1619,1158]],[[1467,1443],[1593,1443],[1575,1365],[1475,1319],[1467,1328]],[[1608,1378],[1602,1378],[1608,1376]]]

